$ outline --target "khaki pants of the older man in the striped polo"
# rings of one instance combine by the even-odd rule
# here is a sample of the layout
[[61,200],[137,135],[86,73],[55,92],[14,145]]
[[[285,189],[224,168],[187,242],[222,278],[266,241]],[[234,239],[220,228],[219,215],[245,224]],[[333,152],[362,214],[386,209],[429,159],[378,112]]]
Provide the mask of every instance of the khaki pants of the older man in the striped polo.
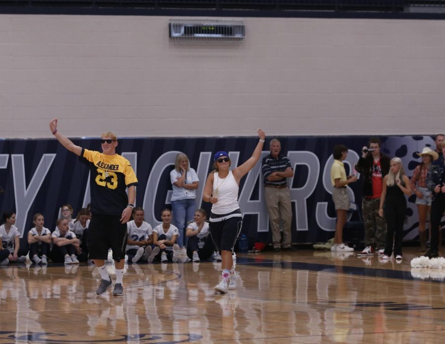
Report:
[[288,248],[292,242],[291,223],[292,208],[288,188],[264,188],[267,212],[269,213],[270,229],[272,231],[273,247],[281,246],[280,220],[283,225],[283,248]]

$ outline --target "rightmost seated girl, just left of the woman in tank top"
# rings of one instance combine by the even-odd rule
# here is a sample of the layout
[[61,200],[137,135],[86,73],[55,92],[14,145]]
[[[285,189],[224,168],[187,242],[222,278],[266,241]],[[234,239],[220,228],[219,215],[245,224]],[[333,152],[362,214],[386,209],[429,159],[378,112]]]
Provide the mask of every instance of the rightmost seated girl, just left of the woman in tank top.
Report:
[[187,256],[193,262],[209,259],[215,250],[206,219],[207,212],[204,209],[196,209],[195,221],[190,223],[185,231],[185,236],[188,237]]

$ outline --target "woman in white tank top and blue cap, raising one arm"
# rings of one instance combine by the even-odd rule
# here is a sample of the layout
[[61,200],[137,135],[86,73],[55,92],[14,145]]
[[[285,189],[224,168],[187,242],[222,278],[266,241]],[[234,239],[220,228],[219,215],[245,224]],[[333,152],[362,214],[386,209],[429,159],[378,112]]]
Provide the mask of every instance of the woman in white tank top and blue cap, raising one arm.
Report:
[[220,293],[236,288],[237,274],[233,267],[232,253],[243,220],[238,204],[239,181],[260,159],[266,134],[258,129],[258,136],[260,141],[252,156],[232,171],[229,170],[228,153],[217,152],[214,155],[213,171],[207,177],[204,188],[203,200],[212,203],[210,234],[223,259],[223,280],[215,286],[215,290]]

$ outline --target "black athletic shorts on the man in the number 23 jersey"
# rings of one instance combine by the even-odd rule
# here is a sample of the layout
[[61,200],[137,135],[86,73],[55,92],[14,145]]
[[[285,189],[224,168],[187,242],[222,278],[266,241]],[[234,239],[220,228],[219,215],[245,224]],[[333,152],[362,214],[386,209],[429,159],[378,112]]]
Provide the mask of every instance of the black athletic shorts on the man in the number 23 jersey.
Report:
[[125,259],[127,249],[127,224],[121,224],[119,215],[93,214],[88,228],[89,259],[108,258],[108,249],[113,250],[113,259]]

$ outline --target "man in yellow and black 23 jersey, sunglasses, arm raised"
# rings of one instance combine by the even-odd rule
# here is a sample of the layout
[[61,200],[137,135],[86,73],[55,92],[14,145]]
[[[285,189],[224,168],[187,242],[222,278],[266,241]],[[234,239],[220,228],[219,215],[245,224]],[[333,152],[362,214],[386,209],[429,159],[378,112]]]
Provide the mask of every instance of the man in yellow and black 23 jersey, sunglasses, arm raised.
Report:
[[134,170],[126,158],[116,154],[118,142],[114,133],[102,134],[100,144],[103,153],[99,153],[76,146],[60,134],[57,131],[57,119],[49,123],[49,130],[63,147],[78,155],[89,166],[92,217],[87,245],[89,258],[94,261],[102,278],[96,294],[104,294],[112,284],[105,267],[108,249],[111,248],[116,267],[113,296],[123,295],[127,222],[136,199],[137,179]]

